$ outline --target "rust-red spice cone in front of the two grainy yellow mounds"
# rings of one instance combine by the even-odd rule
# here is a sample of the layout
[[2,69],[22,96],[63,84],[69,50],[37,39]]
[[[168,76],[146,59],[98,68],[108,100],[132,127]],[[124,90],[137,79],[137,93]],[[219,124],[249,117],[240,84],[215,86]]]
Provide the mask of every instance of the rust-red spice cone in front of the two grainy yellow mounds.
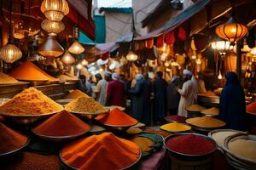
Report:
[[52,137],[79,135],[89,130],[88,124],[68,111],[61,111],[33,128],[33,131],[39,135]]

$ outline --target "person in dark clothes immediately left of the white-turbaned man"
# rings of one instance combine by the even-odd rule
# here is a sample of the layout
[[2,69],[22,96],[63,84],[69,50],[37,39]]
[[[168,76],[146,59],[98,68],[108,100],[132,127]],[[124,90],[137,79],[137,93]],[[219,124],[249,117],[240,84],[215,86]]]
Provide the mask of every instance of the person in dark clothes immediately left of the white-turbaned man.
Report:
[[178,104],[180,100],[180,94],[177,92],[179,87],[180,78],[177,76],[172,77],[172,81],[168,82],[167,93],[167,110],[170,115],[177,115]]

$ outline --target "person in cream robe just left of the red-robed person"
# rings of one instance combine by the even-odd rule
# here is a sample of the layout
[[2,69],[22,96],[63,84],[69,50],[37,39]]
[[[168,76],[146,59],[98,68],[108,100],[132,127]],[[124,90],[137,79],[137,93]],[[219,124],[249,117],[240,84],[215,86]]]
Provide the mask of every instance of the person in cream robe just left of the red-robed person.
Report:
[[97,73],[95,77],[96,88],[94,90],[94,93],[96,95],[96,101],[102,105],[106,105],[108,82],[102,78],[102,75],[100,73]]

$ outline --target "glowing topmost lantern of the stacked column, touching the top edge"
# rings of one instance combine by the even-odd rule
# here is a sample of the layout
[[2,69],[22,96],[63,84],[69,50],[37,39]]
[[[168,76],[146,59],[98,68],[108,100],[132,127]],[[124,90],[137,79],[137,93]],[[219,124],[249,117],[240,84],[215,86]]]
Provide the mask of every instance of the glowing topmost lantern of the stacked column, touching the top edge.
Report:
[[47,19],[60,21],[69,13],[69,8],[66,0],[44,0],[41,3],[41,11]]

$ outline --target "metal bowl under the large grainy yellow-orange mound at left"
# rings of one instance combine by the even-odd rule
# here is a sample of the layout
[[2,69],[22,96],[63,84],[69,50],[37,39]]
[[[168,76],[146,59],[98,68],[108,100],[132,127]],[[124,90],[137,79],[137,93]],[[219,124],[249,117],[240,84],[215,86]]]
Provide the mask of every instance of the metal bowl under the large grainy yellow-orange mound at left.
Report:
[[21,125],[31,125],[32,123],[38,122],[39,120],[43,120],[48,118],[49,116],[54,115],[56,112],[51,112],[47,114],[42,115],[26,115],[26,116],[19,116],[19,115],[8,115],[5,113],[0,113],[1,116],[3,116],[6,120],[10,120],[11,122],[15,122],[17,124]]

